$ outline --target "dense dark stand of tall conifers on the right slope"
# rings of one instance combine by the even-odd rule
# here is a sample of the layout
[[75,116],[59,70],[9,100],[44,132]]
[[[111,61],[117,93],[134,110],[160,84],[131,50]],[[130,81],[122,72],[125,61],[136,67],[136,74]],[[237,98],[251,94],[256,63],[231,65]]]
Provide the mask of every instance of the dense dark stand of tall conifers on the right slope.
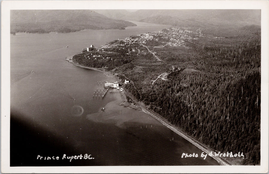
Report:
[[[243,28],[232,45],[196,47],[200,72],[169,74],[153,86],[126,86],[150,108],[221,152],[244,152],[243,164],[260,163],[260,30]],[[130,77],[131,78],[131,77]],[[132,79],[132,78],[131,78]]]

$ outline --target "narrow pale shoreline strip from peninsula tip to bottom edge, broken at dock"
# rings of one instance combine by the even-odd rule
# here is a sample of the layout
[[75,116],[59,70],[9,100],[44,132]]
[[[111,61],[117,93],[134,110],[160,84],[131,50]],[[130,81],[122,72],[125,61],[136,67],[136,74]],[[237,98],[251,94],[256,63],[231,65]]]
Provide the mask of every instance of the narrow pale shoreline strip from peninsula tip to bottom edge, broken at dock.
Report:
[[[67,60],[67,59],[65,59]],[[87,66],[83,66],[83,65],[79,65],[77,63],[74,63],[72,60],[68,60],[69,63],[72,63],[75,66],[81,67],[81,68],[85,68],[85,69],[91,69],[91,70],[96,70],[96,71],[100,71],[103,72],[105,75],[109,76],[109,77],[113,77],[115,80],[119,81],[113,74],[111,74],[110,72],[106,72],[104,70],[98,69],[98,68],[91,68],[91,67],[87,67]],[[130,96],[129,92],[126,91],[126,89],[124,88],[123,92],[120,93],[121,94],[121,98],[122,98],[122,102],[119,103],[120,106],[124,106],[124,107],[128,107],[130,109],[138,109],[143,111],[144,113],[152,116],[154,119],[156,119],[158,122],[160,122],[161,124],[163,124],[164,126],[166,126],[167,128],[169,128],[170,130],[172,130],[173,132],[175,132],[176,134],[178,134],[179,136],[183,137],[184,139],[186,139],[187,141],[189,141],[190,143],[192,143],[192,145],[198,147],[200,150],[204,151],[206,154],[209,154],[211,152],[215,152],[214,150],[210,149],[209,147],[207,147],[206,145],[204,145],[203,143],[199,142],[198,140],[195,140],[194,138],[192,138],[191,136],[189,136],[187,133],[185,133],[183,130],[181,130],[180,128],[177,128],[176,126],[170,124],[166,119],[164,119],[161,115],[155,113],[154,111],[149,110],[148,108],[146,108],[145,106],[142,106],[137,100],[135,100],[132,96]],[[130,97],[133,102],[138,105],[138,108],[134,108],[131,105],[133,105],[132,103],[129,103],[126,99],[126,96]],[[222,157],[219,156],[211,156],[213,159],[215,159],[220,165],[232,165],[230,162],[228,162],[227,160],[223,159]]]

